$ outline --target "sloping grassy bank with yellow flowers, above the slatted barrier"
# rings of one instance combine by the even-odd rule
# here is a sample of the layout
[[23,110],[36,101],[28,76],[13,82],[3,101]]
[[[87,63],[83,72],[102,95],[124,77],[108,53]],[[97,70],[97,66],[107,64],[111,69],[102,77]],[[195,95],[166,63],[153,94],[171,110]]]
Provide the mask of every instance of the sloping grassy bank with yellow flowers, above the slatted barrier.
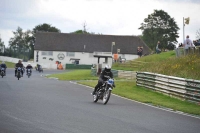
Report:
[[127,63],[116,63],[113,65],[113,68],[117,70],[123,68],[123,70],[146,71],[200,80],[200,55],[190,54],[177,58],[174,51],[169,51],[144,56]]

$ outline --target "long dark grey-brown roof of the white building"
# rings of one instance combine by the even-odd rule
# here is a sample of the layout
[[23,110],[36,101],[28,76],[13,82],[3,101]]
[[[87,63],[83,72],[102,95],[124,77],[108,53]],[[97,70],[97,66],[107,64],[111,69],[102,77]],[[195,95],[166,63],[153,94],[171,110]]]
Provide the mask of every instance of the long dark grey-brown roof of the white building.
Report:
[[150,53],[149,47],[136,36],[55,32],[36,33],[35,50],[88,53],[93,53],[94,51],[111,52],[112,42],[115,42],[113,53],[116,53],[117,49],[120,49],[120,54],[137,54],[138,46],[143,46],[143,54]]

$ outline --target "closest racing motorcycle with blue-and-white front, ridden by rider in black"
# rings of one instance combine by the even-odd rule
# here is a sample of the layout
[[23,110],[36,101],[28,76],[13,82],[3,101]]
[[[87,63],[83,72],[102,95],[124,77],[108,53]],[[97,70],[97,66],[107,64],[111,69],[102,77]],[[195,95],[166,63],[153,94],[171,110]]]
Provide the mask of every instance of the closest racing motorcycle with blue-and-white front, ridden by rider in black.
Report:
[[107,104],[110,99],[111,91],[114,87],[114,79],[109,78],[103,85],[97,89],[93,95],[93,101],[103,100],[103,104]]

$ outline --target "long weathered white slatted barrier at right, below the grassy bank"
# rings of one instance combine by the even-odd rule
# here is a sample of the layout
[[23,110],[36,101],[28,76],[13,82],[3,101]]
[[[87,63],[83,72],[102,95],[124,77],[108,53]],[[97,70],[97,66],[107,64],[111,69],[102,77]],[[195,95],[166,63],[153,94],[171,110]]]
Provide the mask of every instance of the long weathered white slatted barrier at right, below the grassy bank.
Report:
[[137,72],[136,84],[200,104],[200,81],[149,72]]

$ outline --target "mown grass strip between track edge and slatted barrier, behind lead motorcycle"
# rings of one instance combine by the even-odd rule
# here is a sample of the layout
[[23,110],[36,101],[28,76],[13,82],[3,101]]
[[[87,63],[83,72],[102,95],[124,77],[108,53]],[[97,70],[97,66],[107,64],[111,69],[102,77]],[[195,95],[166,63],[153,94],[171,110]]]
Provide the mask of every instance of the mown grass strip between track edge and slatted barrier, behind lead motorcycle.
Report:
[[[79,83],[94,87],[97,81],[80,81]],[[200,115],[200,106],[182,101],[152,90],[136,86],[135,81],[116,81],[116,88],[112,93],[126,97],[132,100],[136,100],[143,103],[152,104],[154,106],[161,106],[171,108],[175,111],[182,111],[189,114]]]

